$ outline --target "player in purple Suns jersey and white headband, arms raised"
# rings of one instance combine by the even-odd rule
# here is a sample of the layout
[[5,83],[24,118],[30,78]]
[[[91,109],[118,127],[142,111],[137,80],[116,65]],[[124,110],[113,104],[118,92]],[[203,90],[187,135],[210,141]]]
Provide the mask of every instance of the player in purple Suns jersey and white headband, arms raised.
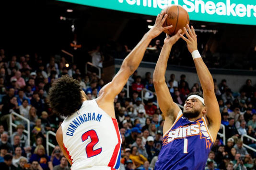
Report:
[[[165,38],[153,74],[157,100],[165,116],[163,147],[155,170],[204,170],[221,125],[213,79],[198,52],[196,32],[193,26],[190,29],[188,25],[184,32],[187,38],[180,34],[181,30],[175,36]],[[203,89],[203,96],[199,93],[188,95],[183,112],[173,102],[164,78],[171,48],[180,37],[186,41],[192,54]]]

